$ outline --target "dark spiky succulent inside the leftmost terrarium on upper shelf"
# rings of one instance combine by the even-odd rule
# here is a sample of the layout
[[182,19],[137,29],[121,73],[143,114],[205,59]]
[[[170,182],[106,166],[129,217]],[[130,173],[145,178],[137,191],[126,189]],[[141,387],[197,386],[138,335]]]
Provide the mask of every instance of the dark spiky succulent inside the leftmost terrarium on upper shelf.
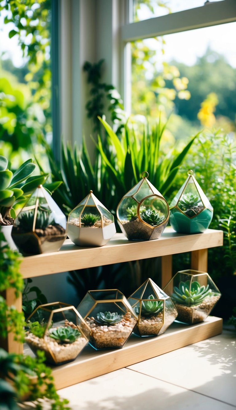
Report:
[[[33,229],[34,211],[21,212],[18,216],[16,224],[25,232],[30,232]],[[45,229],[48,225],[54,224],[53,214],[48,210],[38,209],[35,229]]]

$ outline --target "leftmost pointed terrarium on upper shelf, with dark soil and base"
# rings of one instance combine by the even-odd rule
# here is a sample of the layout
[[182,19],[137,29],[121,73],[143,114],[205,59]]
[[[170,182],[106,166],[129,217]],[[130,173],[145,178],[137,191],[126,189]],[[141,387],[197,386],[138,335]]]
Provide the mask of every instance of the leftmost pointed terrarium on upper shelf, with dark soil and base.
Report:
[[40,185],[15,219],[11,232],[23,255],[59,251],[66,239],[66,216]]

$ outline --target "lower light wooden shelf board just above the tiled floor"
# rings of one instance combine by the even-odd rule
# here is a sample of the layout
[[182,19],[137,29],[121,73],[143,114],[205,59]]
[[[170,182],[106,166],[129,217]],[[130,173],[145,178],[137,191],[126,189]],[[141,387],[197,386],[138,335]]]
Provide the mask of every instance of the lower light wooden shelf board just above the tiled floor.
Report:
[[[87,346],[74,362],[53,367],[55,386],[62,389],[200,342],[221,332],[222,319],[209,316],[204,322],[192,326],[173,323],[166,333],[158,337],[132,335],[123,348],[116,350],[95,351],[91,346]],[[26,347],[25,353],[29,354],[29,351]]]

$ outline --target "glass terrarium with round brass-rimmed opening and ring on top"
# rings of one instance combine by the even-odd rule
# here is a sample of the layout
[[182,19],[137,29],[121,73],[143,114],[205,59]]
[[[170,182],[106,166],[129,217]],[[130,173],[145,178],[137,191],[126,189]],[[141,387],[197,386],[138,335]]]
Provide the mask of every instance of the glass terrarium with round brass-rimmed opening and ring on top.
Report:
[[[146,176],[144,176],[146,174]],[[138,182],[117,207],[118,224],[130,241],[158,239],[169,220],[169,206],[165,198],[142,173]]]

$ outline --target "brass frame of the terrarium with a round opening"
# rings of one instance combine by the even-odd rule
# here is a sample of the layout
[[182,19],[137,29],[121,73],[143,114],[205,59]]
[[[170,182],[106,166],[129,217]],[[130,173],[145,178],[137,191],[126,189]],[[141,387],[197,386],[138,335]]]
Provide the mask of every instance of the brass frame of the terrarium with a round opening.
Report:
[[[144,176],[145,173],[146,173],[146,176]],[[141,184],[137,187],[137,190],[134,192],[134,194],[132,194],[132,195],[128,195],[128,193],[125,194],[125,195],[121,198],[120,202],[118,203],[118,206],[117,206],[117,209],[116,209],[116,215],[117,215],[117,220],[118,220],[119,225],[121,225],[121,226],[123,225],[122,221],[121,221],[120,218],[118,217],[118,209],[119,209],[119,206],[120,206],[120,204],[122,203],[122,201],[123,201],[124,198],[132,198],[133,200],[135,200],[135,202],[138,204],[137,216],[138,216],[139,221],[140,221],[141,223],[143,223],[144,225],[148,226],[149,228],[152,228],[152,230],[154,230],[154,229],[156,229],[156,228],[159,228],[161,225],[163,225],[164,223],[166,223],[166,221],[168,220],[168,218],[169,218],[169,216],[170,216],[170,209],[169,209],[168,202],[167,202],[167,200],[163,197],[163,195],[161,195],[161,193],[160,193],[160,192],[151,184],[151,182],[147,179],[147,178],[148,178],[148,175],[149,175],[149,174],[148,174],[147,171],[143,171],[143,172],[142,172],[142,178],[143,178],[143,180],[141,181]],[[141,201],[138,201],[136,198],[134,198],[134,195],[136,195],[137,192],[141,189],[141,187],[142,187],[144,181],[147,182],[147,185],[149,186],[150,190],[152,191],[152,194],[147,195],[147,196],[145,196]],[[151,198],[151,197],[155,197],[155,198],[159,198],[159,199],[163,200],[163,201],[166,203],[167,209],[168,209],[168,214],[167,214],[166,218],[164,219],[164,221],[162,221],[161,223],[159,223],[159,225],[157,225],[157,226],[152,226],[152,225],[150,225],[149,223],[146,223],[145,221],[143,221],[143,219],[142,219],[141,216],[140,216],[140,212],[139,212],[140,207],[142,206],[142,203],[143,203],[147,198]],[[155,199],[155,198],[154,198],[154,199]],[[151,235],[150,235],[150,236],[151,236]]]

